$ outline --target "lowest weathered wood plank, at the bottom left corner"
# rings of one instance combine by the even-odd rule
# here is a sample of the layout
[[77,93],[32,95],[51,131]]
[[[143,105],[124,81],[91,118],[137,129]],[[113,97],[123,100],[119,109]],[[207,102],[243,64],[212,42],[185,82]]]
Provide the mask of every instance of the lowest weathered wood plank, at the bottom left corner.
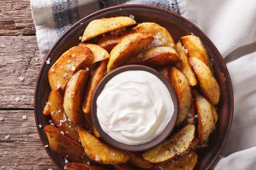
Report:
[[0,169],[56,169],[38,136],[33,111],[0,110],[0,117]]

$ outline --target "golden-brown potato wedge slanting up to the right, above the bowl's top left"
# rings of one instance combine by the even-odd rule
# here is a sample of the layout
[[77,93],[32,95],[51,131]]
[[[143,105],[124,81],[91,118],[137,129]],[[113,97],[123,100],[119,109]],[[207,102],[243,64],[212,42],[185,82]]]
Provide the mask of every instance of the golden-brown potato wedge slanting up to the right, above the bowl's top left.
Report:
[[106,72],[109,73],[113,69],[125,65],[132,56],[138,54],[153,40],[154,37],[150,33],[132,33],[126,35],[126,37],[111,50]]

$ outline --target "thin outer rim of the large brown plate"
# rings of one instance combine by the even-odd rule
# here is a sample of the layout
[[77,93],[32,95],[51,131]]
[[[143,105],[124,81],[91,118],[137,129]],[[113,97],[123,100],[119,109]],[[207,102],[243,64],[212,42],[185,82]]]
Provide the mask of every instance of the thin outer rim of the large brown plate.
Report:
[[[35,125],[36,125],[36,128],[37,128],[37,131],[38,131],[38,135],[40,137],[40,140],[42,142],[42,145],[45,146],[46,143],[44,142],[44,140],[42,139],[42,134],[41,134],[41,131],[40,131],[40,128],[38,126],[38,114],[42,114],[42,113],[37,113],[37,99],[38,99],[38,84],[40,82],[40,80],[42,79],[42,71],[45,69],[46,67],[46,60],[48,60],[48,58],[50,58],[51,56],[51,52],[56,48],[57,44],[59,43],[59,41],[61,41],[61,39],[63,39],[64,37],[66,37],[66,35],[68,35],[68,33],[70,33],[70,31],[72,31],[72,29],[74,29],[75,27],[78,27],[79,24],[81,22],[83,22],[83,20],[87,20],[87,18],[91,18],[93,16],[96,16],[98,14],[101,14],[101,13],[104,13],[104,12],[107,12],[109,10],[115,10],[115,9],[122,9],[122,8],[129,8],[129,7],[141,7],[141,8],[145,8],[145,9],[152,9],[152,10],[157,10],[157,11],[160,11],[160,12],[165,12],[165,13],[168,13],[172,16],[175,16],[176,18],[179,18],[180,20],[183,20],[184,22],[186,22],[187,24],[190,24],[191,27],[193,27],[194,29],[196,29],[201,35],[203,35],[203,37],[205,37],[205,39],[209,42],[209,44],[212,46],[212,48],[215,50],[216,52],[216,55],[218,56],[221,56],[221,53],[218,51],[218,49],[216,48],[216,46],[214,46],[214,44],[212,43],[212,41],[208,38],[207,35],[205,35],[205,33],[203,33],[203,31],[201,31],[201,29],[199,29],[195,24],[193,24],[193,22],[190,22],[189,20],[187,20],[186,18],[184,18],[183,16],[181,16],[180,14],[176,14],[175,12],[171,12],[169,10],[166,10],[164,8],[161,8],[161,7],[156,7],[156,6],[153,6],[153,5],[143,5],[143,4],[126,4],[126,5],[115,5],[115,6],[112,6],[112,7],[106,7],[102,10],[98,10],[97,12],[94,12],[94,13],[91,13],[83,18],[81,18],[80,20],[78,20],[77,22],[75,22],[67,31],[65,31],[58,39],[57,41],[55,41],[55,43],[53,44],[53,46],[51,46],[51,48],[49,49],[49,51],[47,52],[46,54],[46,57],[44,58],[44,61],[42,62],[42,65],[40,67],[40,71],[38,73],[38,78],[36,79],[36,84],[35,84],[35,92],[34,92],[34,102],[33,102],[33,107],[34,107],[34,116],[35,116]],[[227,122],[229,124],[229,126],[227,127],[226,131],[227,133],[225,133],[224,137],[223,137],[223,142],[221,144],[221,146],[219,146],[219,150],[218,152],[216,153],[216,156],[210,161],[209,165],[207,166],[206,169],[210,169],[212,167],[212,165],[214,165],[214,163],[216,163],[216,160],[218,159],[218,156],[221,154],[221,151],[223,150],[223,147],[225,146],[225,143],[227,141],[227,137],[229,135],[229,131],[231,129],[231,124],[232,124],[232,120],[233,120],[233,86],[232,86],[232,83],[231,83],[231,78],[230,78],[230,75],[229,75],[229,71],[227,70],[227,66],[225,65],[225,61],[223,59],[223,57],[221,56],[219,58],[221,60],[221,63],[225,69],[225,72],[227,73],[227,81],[229,82],[229,87],[230,87],[230,95],[231,95],[231,108],[230,109],[230,119],[229,121]],[[55,166],[58,168],[58,169],[61,169],[60,165],[57,163],[57,161],[55,160],[55,158],[53,158],[53,156],[51,156],[48,148],[44,148],[46,150],[46,153],[48,154],[48,156],[51,158],[51,160],[53,161],[53,163],[55,164]]]

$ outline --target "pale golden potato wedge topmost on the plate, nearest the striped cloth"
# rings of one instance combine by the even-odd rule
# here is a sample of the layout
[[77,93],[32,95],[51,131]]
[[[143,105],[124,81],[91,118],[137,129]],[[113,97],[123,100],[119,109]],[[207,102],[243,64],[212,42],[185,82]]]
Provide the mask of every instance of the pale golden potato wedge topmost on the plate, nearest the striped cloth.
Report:
[[136,20],[128,16],[117,16],[112,18],[92,20],[89,22],[85,32],[83,33],[82,42],[97,37],[103,33],[107,33],[115,29],[120,29],[122,27],[128,27],[133,24],[137,24]]

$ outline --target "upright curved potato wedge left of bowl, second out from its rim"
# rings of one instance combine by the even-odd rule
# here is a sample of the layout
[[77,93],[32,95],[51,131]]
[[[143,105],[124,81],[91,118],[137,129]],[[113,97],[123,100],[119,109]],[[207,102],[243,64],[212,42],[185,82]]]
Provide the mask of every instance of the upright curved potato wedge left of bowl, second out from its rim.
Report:
[[81,110],[83,101],[83,92],[85,90],[86,82],[89,77],[89,72],[80,70],[70,78],[66,86],[64,94],[63,107],[66,115],[74,124],[83,125],[83,112]]

